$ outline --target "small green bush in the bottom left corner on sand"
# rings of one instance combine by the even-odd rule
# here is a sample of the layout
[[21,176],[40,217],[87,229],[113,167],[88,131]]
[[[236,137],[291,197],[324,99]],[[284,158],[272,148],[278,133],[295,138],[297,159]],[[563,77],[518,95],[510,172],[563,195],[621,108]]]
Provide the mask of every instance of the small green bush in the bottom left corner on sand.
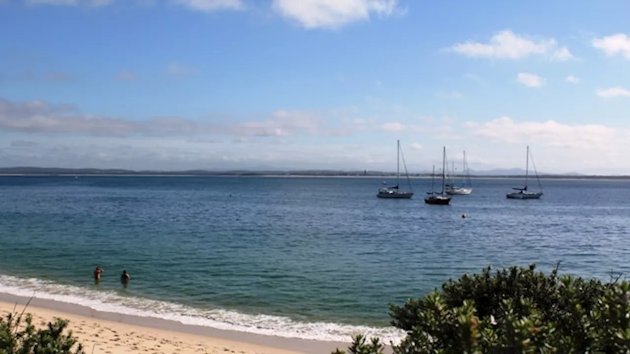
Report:
[[0,354],[85,354],[67,325],[57,319],[36,329],[30,314],[8,314],[0,318]]

